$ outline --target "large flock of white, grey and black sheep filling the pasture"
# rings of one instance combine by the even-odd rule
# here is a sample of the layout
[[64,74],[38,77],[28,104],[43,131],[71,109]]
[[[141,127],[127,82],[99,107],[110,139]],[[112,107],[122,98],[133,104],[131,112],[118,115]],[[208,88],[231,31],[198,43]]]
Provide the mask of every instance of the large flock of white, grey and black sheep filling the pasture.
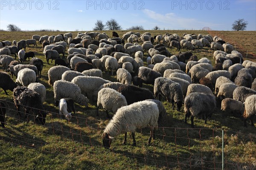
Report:
[[[247,118],[253,126],[256,63],[244,61],[241,53],[220,37],[167,33],[153,37],[149,32],[127,32],[122,37],[113,32],[112,37],[99,32],[79,32],[74,38],[72,33],[66,33],[33,35],[32,39],[18,42],[3,41],[0,43],[0,63],[17,79],[14,82],[7,72],[1,71],[0,87],[6,95],[6,90],[13,91],[19,115],[20,106],[27,114],[32,107],[36,121],[45,124],[46,88],[38,83],[43,61],[36,58],[34,52],[25,52],[26,46],[37,46],[38,41],[42,43],[47,63],[55,61],[55,66],[48,70],[48,78],[60,115],[70,120],[72,111],[75,112],[74,103],[87,107],[89,101],[97,101],[97,116],[99,108],[106,110],[108,118],[108,111],[114,113],[102,135],[104,147],[110,147],[111,139],[120,133],[125,133],[125,144],[127,132],[132,133],[136,145],[134,133],[137,127],[147,125],[151,127],[150,143],[157,122],[167,116],[161,97],[162,101],[172,103],[173,109],[177,107],[177,111],[184,104],[185,122],[191,116],[192,127],[194,117],[200,115],[207,123],[207,117],[220,103],[222,110],[241,116],[244,126],[247,126]],[[157,44],[153,45],[154,42]],[[192,51],[171,55],[166,49],[195,50],[205,46],[215,50],[214,66],[208,58],[198,60]],[[16,54],[18,61],[15,60]],[[29,58],[32,58],[29,64],[22,64]],[[102,78],[102,72],[109,71],[111,75],[116,72],[118,82]],[[143,84],[154,85],[154,92],[142,88]],[[0,102],[0,107],[0,121],[4,127],[6,111],[3,102]]]

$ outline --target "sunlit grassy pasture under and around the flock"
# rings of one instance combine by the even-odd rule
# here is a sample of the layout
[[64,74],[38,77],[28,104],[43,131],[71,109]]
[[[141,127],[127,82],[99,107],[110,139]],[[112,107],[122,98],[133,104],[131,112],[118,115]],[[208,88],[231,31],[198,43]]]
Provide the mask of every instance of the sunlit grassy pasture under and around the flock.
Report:
[[[84,32],[84,31],[83,31]],[[112,37],[111,31],[104,31]],[[127,30],[116,31],[121,37]],[[209,34],[201,30],[143,30],[135,32],[151,32],[151,35],[183,33],[196,35]],[[26,40],[32,35],[58,35],[66,32],[0,32],[0,41]],[[73,37],[77,32],[72,32]],[[210,32],[229,38],[247,59],[256,61],[256,32]],[[212,37],[215,35],[212,34]],[[221,36],[219,36],[221,37]],[[225,40],[225,38],[223,38]],[[229,42],[227,40],[227,42]],[[251,41],[250,41],[251,40]],[[154,43],[155,44],[155,43]],[[232,43],[233,44],[233,43]],[[233,44],[234,45],[234,44]],[[168,48],[169,49],[169,48]],[[147,145],[149,128],[138,129],[135,134],[137,147],[132,146],[132,138],[128,133],[128,144],[122,145],[124,135],[116,136],[111,148],[102,147],[102,133],[108,124],[105,110],[100,109],[96,116],[96,102],[91,102],[86,108],[78,104],[76,114],[72,115],[70,122],[58,118],[58,107],[55,107],[53,88],[48,84],[48,70],[54,66],[45,59],[42,45],[26,47],[26,51],[35,52],[35,56],[44,61],[42,77],[39,83],[47,89],[44,109],[49,113],[45,126],[35,124],[32,116],[24,118],[17,115],[13,104],[12,92],[0,90],[0,99],[8,108],[6,111],[6,128],[0,127],[0,169],[1,170],[198,170],[221,169],[221,130],[224,128],[224,169],[228,170],[253,170],[256,169],[256,128],[247,128],[243,122],[232,114],[222,112],[220,104],[209,118],[207,124],[200,118],[195,118],[195,129],[191,129],[190,119],[184,123],[185,114],[172,110],[172,105],[166,101],[163,104],[167,111],[165,120],[158,124],[157,138],[151,145]],[[172,55],[177,54],[176,49],[169,50]],[[185,49],[181,49],[185,52]],[[212,61],[213,52],[208,47],[195,49],[193,55],[198,59],[207,57]],[[144,53],[146,61],[148,53]],[[14,55],[12,55],[14,57]],[[244,56],[246,57],[246,56]],[[65,53],[67,58],[67,50]],[[244,58],[246,60],[246,58]],[[29,63],[26,61],[24,63]],[[146,62],[144,62],[146,65]],[[0,67],[3,71],[3,67]],[[103,73],[103,78],[116,81],[116,75]],[[13,77],[15,81],[15,76]],[[0,80],[1,81],[1,80]],[[152,85],[143,87],[153,90]],[[113,116],[113,113],[110,113]],[[254,118],[256,122],[256,118]]]

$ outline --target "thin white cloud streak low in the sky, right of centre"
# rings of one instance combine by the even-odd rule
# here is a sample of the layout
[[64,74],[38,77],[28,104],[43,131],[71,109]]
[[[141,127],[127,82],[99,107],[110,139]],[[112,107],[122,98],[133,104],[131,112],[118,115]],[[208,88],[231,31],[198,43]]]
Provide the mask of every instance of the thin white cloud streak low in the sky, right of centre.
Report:
[[157,12],[151,11],[149,9],[145,9],[143,12],[151,19],[172,29],[202,29],[204,26],[220,26],[220,24],[200,21],[195,18],[179,17],[175,13],[158,14]]

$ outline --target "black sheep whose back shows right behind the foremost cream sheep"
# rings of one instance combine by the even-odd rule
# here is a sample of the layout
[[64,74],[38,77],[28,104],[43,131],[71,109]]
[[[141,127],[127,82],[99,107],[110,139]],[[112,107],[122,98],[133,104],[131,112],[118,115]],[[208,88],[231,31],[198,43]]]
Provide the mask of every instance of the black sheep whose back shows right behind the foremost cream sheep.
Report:
[[124,84],[120,86],[117,91],[125,96],[128,105],[138,101],[144,101],[146,99],[155,99],[153,93],[150,90],[130,84]]

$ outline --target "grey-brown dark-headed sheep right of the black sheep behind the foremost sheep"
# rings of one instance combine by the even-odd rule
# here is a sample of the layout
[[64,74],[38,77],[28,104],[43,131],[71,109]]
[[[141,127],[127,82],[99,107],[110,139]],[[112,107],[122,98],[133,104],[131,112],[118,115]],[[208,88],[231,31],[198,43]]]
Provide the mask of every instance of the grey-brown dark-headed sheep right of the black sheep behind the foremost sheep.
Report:
[[177,104],[177,111],[183,103],[183,92],[179,83],[176,83],[167,78],[156,78],[154,82],[154,95],[160,100],[160,96],[167,98],[167,101],[172,103],[172,109]]

